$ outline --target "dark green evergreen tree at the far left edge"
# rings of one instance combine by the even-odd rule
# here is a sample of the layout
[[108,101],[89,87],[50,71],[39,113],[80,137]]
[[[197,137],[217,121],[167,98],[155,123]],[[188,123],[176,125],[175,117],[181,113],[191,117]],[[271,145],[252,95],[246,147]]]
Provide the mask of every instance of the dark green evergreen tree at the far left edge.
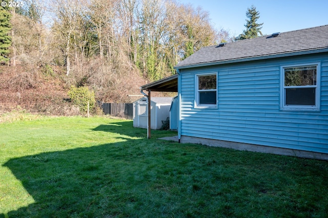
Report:
[[9,11],[4,7],[0,7],[0,63],[6,63],[9,60],[8,54],[11,45],[10,18]]

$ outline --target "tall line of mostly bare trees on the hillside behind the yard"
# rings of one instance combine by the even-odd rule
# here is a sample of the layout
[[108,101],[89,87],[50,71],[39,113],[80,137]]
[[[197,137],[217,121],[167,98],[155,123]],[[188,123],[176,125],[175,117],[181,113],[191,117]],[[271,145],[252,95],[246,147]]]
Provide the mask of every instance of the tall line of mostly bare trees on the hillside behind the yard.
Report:
[[173,67],[201,47],[234,40],[211,25],[208,12],[174,0],[4,2],[1,63],[61,66],[77,86],[107,97],[104,89],[118,91],[132,75],[154,81],[175,74]]

